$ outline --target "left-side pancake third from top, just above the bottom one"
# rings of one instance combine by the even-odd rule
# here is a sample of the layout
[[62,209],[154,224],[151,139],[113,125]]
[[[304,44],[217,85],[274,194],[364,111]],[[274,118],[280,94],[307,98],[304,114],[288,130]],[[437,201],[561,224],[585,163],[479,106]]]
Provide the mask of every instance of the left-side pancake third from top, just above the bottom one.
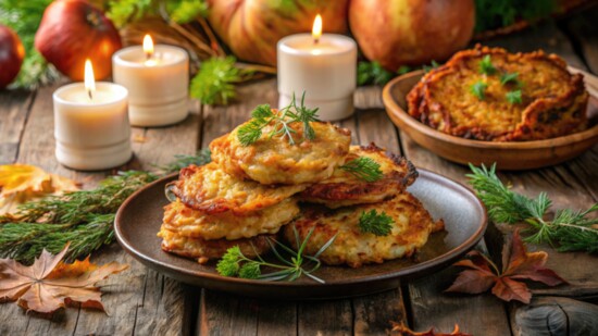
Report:
[[186,237],[232,240],[261,234],[275,234],[298,213],[297,201],[291,198],[244,215],[232,212],[209,215],[177,200],[164,207],[163,226]]

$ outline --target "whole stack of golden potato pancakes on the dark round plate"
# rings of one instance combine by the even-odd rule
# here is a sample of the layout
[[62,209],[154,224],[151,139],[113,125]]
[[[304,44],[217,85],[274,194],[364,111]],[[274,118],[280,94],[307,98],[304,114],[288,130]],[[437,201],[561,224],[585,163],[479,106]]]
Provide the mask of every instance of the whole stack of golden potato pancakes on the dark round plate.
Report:
[[[297,248],[295,226],[302,239],[313,228],[308,254],[336,235],[321,260],[357,267],[409,256],[441,226],[406,191],[418,176],[406,159],[373,144],[350,146],[350,130],[315,121],[312,136],[301,122],[273,134],[272,122],[247,144],[239,129],[249,123],[212,141],[212,162],[183,169],[167,187],[176,200],[165,207],[158,234],[163,250],[204,263],[239,246],[252,258],[266,253],[267,238],[279,232]],[[354,164],[365,158],[377,166],[375,181]],[[360,229],[372,211],[393,220],[386,235]]]

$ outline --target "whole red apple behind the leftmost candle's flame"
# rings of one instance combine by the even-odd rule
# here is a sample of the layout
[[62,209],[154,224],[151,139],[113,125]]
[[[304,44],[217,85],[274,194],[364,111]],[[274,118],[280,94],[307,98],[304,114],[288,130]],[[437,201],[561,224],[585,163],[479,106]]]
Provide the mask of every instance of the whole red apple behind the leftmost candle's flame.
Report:
[[85,0],[57,0],[43,12],[35,47],[61,73],[84,78],[91,60],[96,79],[112,73],[112,54],[122,48],[121,36],[103,13]]

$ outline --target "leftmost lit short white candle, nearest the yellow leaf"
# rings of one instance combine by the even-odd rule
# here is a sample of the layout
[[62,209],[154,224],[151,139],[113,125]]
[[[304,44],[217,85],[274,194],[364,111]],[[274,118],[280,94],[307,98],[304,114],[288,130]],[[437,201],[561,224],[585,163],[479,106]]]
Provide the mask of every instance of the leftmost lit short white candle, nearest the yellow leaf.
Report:
[[94,86],[74,83],[53,94],[57,159],[75,170],[107,170],[132,157],[126,88],[103,82]]

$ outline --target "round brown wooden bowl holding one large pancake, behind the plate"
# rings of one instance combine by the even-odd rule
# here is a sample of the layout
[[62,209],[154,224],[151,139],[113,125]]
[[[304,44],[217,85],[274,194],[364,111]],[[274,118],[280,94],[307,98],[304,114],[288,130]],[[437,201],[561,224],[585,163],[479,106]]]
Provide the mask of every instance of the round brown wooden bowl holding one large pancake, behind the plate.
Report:
[[584,132],[546,140],[493,142],[464,139],[436,130],[407,113],[407,95],[423,75],[411,72],[390,80],[383,91],[386,113],[393,123],[420,146],[457,163],[497,163],[500,170],[520,171],[555,165],[573,159],[598,142],[598,99],[590,96]]

